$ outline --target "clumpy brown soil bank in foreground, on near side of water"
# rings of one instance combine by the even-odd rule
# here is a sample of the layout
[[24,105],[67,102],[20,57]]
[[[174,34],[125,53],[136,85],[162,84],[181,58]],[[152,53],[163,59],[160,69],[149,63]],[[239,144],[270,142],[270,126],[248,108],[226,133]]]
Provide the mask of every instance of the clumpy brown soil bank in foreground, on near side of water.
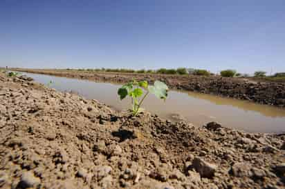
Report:
[[0,74],[0,188],[285,188],[285,135],[194,127]]

